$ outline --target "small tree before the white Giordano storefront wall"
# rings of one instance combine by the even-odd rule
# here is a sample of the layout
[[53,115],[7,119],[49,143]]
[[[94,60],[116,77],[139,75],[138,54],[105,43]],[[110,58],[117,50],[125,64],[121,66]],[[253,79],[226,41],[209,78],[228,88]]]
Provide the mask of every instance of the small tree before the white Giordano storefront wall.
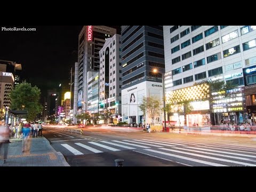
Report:
[[159,115],[161,104],[162,102],[159,98],[150,96],[143,97],[139,105],[139,108],[142,111],[143,115],[147,113],[153,125],[155,116]]

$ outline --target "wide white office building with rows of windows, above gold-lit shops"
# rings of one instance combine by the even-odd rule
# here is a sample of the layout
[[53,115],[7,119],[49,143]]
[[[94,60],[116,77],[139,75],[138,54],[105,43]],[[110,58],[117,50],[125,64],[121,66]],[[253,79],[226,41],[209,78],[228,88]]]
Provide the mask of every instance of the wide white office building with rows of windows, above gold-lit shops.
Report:
[[[167,89],[166,94],[190,90],[188,95],[194,94],[198,99],[199,91],[194,85],[204,79],[223,79],[239,87],[234,91],[235,98],[214,100],[211,109],[209,104],[207,107],[201,103],[199,108],[195,105],[187,125],[195,121],[199,125],[206,122],[214,125],[214,113],[218,112],[222,113],[223,122],[239,124],[246,121],[242,91],[243,94],[255,95],[256,91],[246,93],[244,85],[246,82],[255,84],[256,80],[251,71],[249,77],[244,78],[247,74],[243,69],[250,70],[256,65],[255,29],[256,26],[164,26],[165,70],[172,71],[173,79],[173,86]],[[213,114],[211,122],[210,113]]]

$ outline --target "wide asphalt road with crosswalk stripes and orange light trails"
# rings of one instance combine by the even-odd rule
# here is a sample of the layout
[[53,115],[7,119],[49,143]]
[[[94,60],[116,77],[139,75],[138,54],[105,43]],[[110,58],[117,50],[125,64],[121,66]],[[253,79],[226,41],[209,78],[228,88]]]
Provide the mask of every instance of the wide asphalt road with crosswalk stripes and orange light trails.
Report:
[[70,166],[256,166],[256,138],[89,127],[83,134],[44,127]]

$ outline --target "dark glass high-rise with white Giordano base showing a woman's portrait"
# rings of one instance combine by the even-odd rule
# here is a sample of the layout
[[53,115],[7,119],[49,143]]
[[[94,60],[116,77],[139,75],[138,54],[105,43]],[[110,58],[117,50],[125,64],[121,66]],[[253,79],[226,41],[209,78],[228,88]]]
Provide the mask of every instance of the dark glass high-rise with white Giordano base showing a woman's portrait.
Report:
[[[142,98],[163,98],[163,26],[122,26],[121,35],[122,121],[139,125],[144,121],[138,107]],[[145,122],[162,124],[162,115],[156,115],[154,122],[146,115]]]

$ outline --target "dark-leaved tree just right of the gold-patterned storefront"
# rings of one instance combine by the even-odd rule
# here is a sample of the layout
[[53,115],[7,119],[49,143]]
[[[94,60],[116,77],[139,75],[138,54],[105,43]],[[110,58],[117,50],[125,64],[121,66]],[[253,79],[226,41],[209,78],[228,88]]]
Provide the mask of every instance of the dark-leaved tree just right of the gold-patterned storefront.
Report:
[[[209,99],[210,106],[213,105],[215,100],[214,97],[216,97],[217,94],[218,94],[218,97],[223,97],[228,99],[233,94],[233,92],[229,92],[229,90],[233,90],[237,88],[237,85],[231,82],[226,83],[224,80],[220,80],[220,79],[215,81],[211,81],[210,79],[208,79],[205,83],[209,85],[209,92],[205,92],[204,95],[205,95],[205,98],[207,97]],[[218,125],[221,125],[222,113],[223,113],[222,111],[215,111],[214,113],[214,118],[215,118],[215,115],[217,115]],[[214,124],[215,123],[216,122],[214,122]]]

